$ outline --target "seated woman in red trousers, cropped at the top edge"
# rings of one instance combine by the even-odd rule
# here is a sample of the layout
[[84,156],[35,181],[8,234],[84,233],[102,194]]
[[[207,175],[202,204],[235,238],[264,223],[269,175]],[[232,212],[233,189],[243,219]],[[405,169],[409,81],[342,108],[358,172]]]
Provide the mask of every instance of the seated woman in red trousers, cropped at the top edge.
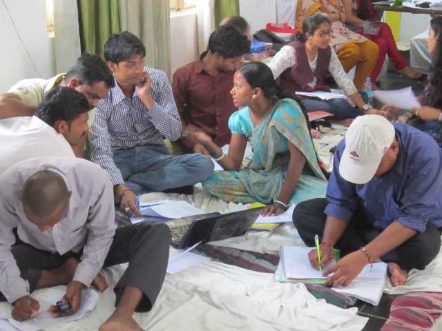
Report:
[[[419,72],[407,66],[407,62],[396,46],[390,26],[376,20],[376,11],[371,0],[343,0],[343,4],[347,15],[346,23],[350,26],[361,26],[355,31],[374,41],[379,47],[378,61],[372,72],[373,82],[376,82],[379,72],[381,72],[386,54],[393,62],[394,68],[401,74],[405,74],[409,78],[421,77]],[[369,25],[370,22],[372,25]]]

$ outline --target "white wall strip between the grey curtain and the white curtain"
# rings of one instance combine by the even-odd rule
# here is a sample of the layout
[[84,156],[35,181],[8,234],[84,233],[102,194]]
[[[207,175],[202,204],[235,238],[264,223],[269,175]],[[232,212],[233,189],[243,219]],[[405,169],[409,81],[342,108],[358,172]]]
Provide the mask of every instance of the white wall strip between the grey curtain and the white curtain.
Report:
[[198,59],[198,31],[195,10],[171,13],[172,73]]

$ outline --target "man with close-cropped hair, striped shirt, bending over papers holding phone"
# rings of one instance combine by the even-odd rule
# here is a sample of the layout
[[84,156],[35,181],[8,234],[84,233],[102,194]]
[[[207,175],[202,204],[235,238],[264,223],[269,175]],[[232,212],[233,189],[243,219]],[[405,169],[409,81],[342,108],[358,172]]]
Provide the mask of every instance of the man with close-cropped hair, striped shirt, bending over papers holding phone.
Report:
[[83,159],[21,161],[0,175],[0,186],[0,301],[14,305],[12,317],[35,317],[39,303],[28,294],[56,285],[67,285],[61,300],[75,313],[82,288],[108,287],[102,267],[128,262],[114,288],[117,308],[99,330],[142,330],[132,314],[151,310],[160,292],[169,228],[115,230],[111,179]]

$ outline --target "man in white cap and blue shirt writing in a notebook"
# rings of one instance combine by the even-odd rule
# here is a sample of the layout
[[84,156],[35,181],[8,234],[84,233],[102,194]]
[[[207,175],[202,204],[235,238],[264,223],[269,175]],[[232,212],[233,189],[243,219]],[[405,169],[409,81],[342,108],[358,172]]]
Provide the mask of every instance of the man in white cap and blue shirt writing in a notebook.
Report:
[[[355,119],[338,145],[327,199],[300,203],[294,224],[314,245],[322,237],[320,264],[327,285],[347,286],[365,265],[388,263],[392,285],[423,270],[439,252],[442,232],[442,153],[429,135],[378,115]],[[315,250],[309,261],[318,268]]]

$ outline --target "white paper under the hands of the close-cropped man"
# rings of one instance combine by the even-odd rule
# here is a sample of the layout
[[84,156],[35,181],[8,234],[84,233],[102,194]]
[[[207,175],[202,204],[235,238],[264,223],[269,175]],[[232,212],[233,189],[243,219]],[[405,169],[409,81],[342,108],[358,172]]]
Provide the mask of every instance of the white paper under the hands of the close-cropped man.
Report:
[[[64,290],[61,289],[66,289],[66,288],[63,287],[63,288],[46,289],[46,291],[49,292],[49,295],[47,295],[44,299],[39,299],[38,297],[35,298],[39,301],[40,304],[39,314],[37,314],[37,317],[35,317],[35,319],[19,322],[15,321],[15,319],[12,319],[12,317],[10,316],[1,316],[0,321],[3,324],[8,323],[8,325],[10,325],[11,327],[9,330],[19,330],[19,331],[44,330],[45,328],[48,328],[53,325],[64,325],[64,323],[68,323],[69,321],[76,321],[78,319],[83,319],[95,309],[99,301],[98,292],[96,290],[93,290],[92,288],[82,290],[81,305],[79,310],[73,315],[54,319],[48,312],[48,308],[50,307],[50,305],[55,304],[57,301],[61,299],[61,297],[64,296]],[[0,324],[0,326],[1,325],[2,324]]]

